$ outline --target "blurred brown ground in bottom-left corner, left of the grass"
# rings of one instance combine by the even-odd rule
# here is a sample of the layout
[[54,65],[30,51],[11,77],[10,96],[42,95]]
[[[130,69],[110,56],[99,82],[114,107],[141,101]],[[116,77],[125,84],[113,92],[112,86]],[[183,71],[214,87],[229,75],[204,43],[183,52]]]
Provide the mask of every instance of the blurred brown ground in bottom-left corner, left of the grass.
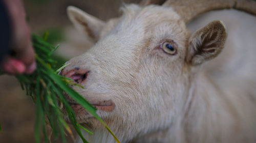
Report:
[[0,77],[0,142],[33,142],[34,105],[12,76]]

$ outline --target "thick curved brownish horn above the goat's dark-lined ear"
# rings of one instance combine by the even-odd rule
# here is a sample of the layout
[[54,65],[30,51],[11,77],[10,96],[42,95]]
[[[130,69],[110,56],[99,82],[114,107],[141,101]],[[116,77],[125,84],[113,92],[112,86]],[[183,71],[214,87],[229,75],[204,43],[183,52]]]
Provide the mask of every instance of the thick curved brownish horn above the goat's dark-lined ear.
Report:
[[237,9],[256,15],[255,0],[168,0],[163,6],[172,6],[185,23],[199,14],[220,9]]

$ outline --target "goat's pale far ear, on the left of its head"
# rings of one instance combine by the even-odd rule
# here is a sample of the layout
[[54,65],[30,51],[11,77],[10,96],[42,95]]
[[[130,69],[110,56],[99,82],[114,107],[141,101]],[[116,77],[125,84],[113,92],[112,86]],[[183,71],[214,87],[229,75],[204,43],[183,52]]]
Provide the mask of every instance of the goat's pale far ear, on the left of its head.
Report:
[[100,32],[105,25],[104,21],[73,6],[67,8],[67,13],[69,19],[78,31],[98,41]]

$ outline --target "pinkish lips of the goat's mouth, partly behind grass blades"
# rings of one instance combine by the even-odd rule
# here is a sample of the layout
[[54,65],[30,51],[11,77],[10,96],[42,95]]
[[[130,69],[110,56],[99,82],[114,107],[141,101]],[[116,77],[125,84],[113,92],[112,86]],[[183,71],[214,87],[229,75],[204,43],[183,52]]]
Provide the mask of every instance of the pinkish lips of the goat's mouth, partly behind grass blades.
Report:
[[[92,106],[97,108],[98,110],[102,111],[112,111],[115,108],[115,104],[112,100],[103,100],[103,101],[91,101],[89,102]],[[69,103],[71,108],[74,110],[76,115],[81,115],[81,114],[88,114],[88,111],[84,109],[80,104],[77,103]]]

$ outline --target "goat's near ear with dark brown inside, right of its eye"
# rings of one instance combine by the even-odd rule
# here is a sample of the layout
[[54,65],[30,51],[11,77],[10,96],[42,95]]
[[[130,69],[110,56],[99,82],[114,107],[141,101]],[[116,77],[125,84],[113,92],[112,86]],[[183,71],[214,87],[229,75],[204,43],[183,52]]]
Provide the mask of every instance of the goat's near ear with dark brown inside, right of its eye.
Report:
[[199,65],[215,58],[223,49],[227,30],[222,21],[212,21],[199,29],[189,39],[186,61]]

